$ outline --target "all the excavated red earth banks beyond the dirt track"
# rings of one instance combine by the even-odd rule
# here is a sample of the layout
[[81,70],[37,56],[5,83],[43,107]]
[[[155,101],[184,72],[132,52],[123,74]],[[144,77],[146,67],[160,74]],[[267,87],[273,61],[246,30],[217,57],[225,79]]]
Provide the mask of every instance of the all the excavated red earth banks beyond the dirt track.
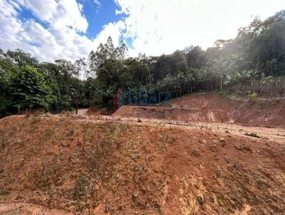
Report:
[[201,93],[172,100],[172,107],[122,106],[113,115],[184,122],[234,122],[252,126],[285,127],[285,100],[233,99]]

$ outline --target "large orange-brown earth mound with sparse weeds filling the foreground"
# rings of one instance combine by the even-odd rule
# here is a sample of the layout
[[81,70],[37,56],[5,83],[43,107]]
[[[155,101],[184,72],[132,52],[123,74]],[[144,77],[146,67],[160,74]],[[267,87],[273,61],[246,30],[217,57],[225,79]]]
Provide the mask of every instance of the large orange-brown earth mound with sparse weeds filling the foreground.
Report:
[[88,116],[0,120],[0,214],[285,214],[285,147]]

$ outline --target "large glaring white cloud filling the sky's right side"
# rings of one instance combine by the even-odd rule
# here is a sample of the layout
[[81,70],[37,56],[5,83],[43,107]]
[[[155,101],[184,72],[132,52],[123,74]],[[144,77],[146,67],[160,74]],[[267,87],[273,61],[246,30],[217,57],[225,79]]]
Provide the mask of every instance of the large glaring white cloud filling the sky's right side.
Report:
[[252,15],[261,19],[285,8],[284,0],[115,0],[127,14],[125,36],[133,38],[135,55],[172,53],[190,45],[213,46],[219,38],[234,38]]

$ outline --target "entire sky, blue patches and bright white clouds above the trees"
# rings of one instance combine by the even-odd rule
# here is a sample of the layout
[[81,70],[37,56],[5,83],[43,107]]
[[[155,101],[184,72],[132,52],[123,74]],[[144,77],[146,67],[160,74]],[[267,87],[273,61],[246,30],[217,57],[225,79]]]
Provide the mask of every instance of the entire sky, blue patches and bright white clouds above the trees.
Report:
[[0,0],[0,48],[75,61],[112,36],[115,46],[127,43],[129,56],[157,56],[206,49],[282,9],[284,0]]

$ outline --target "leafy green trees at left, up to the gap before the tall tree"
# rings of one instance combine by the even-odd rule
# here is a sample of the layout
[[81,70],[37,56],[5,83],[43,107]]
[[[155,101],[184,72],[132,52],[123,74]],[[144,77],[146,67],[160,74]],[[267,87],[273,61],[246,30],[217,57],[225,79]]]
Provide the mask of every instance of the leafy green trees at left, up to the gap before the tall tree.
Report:
[[29,110],[61,112],[76,103],[88,107],[86,81],[77,77],[83,61],[41,63],[19,49],[0,50],[0,116]]

